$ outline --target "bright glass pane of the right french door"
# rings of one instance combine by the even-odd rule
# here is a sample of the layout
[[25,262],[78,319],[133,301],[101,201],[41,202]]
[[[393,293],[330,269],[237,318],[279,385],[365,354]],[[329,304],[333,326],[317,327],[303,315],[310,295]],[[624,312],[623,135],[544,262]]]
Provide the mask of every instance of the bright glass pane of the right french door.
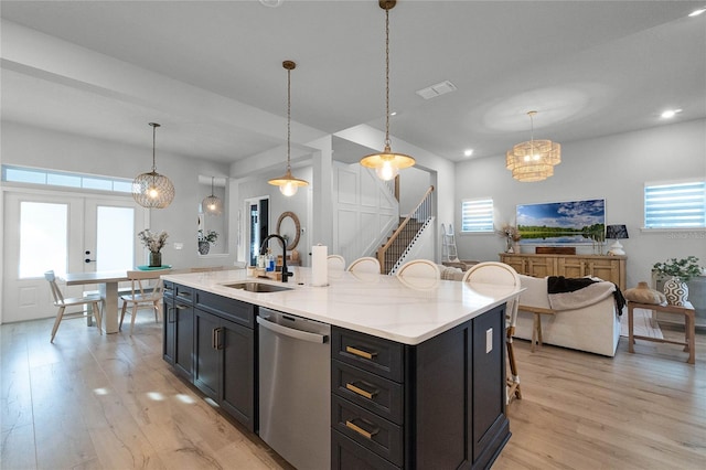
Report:
[[99,205],[97,211],[96,270],[132,269],[135,210]]

